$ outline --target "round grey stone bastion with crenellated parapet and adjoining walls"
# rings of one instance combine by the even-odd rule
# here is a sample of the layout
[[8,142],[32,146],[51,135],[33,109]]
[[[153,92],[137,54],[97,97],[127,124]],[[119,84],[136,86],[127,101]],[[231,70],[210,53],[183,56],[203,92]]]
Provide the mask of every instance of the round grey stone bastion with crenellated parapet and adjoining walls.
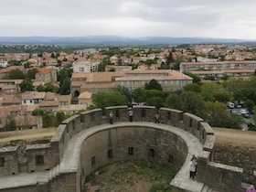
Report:
[[[152,106],[108,107],[73,115],[48,144],[0,148],[0,191],[80,192],[85,177],[102,165],[123,160],[155,160],[176,169],[173,192],[243,192],[240,167],[214,162],[215,135],[191,113]],[[113,119],[110,123],[109,113]],[[191,156],[197,178],[189,179]]]

